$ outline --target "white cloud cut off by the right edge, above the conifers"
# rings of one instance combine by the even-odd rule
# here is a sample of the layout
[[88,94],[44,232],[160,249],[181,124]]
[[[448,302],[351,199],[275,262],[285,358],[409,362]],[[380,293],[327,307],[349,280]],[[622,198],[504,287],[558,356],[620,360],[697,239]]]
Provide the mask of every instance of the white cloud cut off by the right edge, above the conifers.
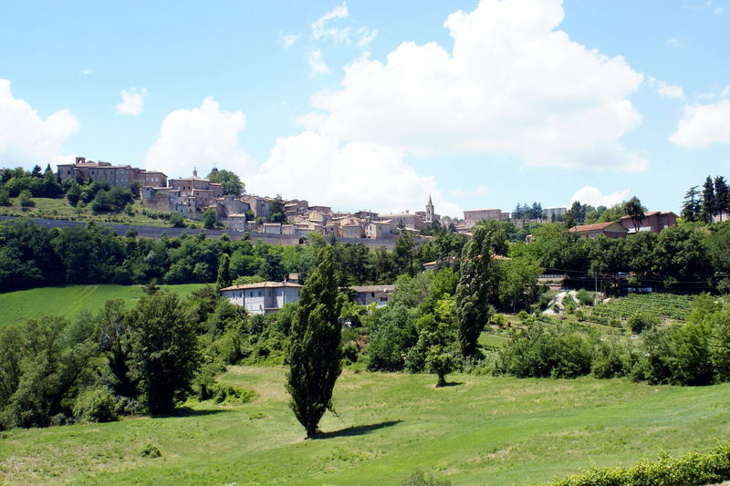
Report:
[[713,143],[730,143],[730,99],[685,106],[679,127],[669,140],[682,147],[700,149]]

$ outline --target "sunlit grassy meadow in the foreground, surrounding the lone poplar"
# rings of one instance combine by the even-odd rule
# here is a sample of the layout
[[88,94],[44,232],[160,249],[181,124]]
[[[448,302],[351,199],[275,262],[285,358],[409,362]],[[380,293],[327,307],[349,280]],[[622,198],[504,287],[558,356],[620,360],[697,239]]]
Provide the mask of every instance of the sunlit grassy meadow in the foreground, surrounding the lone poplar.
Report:
[[[730,385],[650,387],[622,380],[516,379],[345,371],[339,418],[304,440],[284,370],[234,367],[224,380],[257,397],[193,405],[163,419],[16,429],[0,439],[0,479],[18,484],[400,484],[433,470],[460,484],[549,481],[590,465],[630,465],[660,451],[727,439]],[[162,457],[141,457],[151,443]]]

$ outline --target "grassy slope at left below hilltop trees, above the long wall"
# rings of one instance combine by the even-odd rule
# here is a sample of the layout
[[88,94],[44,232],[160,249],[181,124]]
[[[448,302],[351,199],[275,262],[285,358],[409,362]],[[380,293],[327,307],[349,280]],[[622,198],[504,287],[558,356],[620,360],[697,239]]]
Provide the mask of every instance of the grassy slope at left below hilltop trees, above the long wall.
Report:
[[[20,205],[17,198],[11,198],[10,202],[10,206],[0,207],[0,215],[50,218],[55,220],[109,222],[115,224],[139,224],[141,226],[170,226],[169,222],[142,214],[142,206],[139,202],[135,202],[132,206],[135,213],[131,216],[124,212],[94,214],[91,211],[90,204],[85,208],[75,208],[68,203],[66,198],[33,198],[33,202],[36,202],[36,205],[25,209]],[[199,221],[185,220],[185,224],[191,228],[203,228],[203,222]]]

